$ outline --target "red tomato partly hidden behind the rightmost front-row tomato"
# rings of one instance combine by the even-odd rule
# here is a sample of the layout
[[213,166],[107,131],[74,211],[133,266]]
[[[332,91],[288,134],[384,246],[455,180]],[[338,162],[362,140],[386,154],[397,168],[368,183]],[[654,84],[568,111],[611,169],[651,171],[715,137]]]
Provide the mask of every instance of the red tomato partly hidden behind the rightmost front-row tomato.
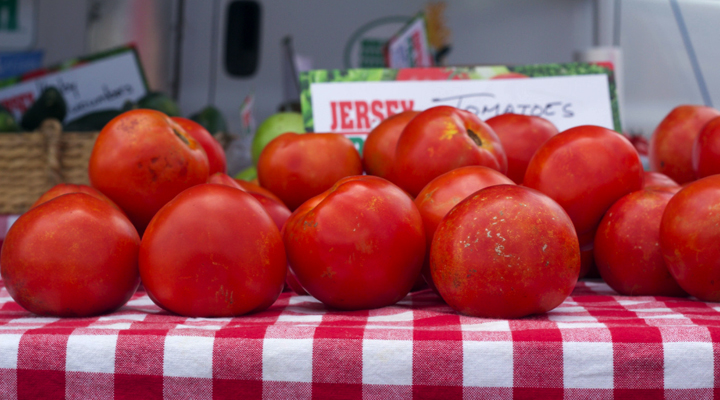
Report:
[[660,220],[673,194],[639,190],[605,213],[595,235],[595,263],[603,280],[627,296],[687,296],[660,251]]

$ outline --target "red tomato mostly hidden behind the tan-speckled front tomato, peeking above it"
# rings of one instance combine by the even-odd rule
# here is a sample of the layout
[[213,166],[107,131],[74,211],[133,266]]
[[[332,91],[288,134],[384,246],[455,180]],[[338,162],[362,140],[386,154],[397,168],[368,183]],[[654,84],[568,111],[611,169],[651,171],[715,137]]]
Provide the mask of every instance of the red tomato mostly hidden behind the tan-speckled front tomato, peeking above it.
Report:
[[[415,198],[425,228],[425,242],[430,249],[440,221],[467,196],[493,185],[512,185],[513,181],[494,169],[472,165],[446,172],[428,183]],[[425,252],[422,275],[437,292],[430,274],[430,252]]]

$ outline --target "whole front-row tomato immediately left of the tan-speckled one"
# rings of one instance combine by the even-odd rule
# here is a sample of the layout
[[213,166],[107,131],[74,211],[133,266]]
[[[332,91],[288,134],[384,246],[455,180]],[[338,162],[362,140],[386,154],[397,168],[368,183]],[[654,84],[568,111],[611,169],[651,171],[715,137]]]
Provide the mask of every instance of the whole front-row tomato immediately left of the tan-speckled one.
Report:
[[288,219],[284,241],[303,288],[343,310],[402,299],[425,255],[417,207],[400,188],[374,176],[341,179],[308,200]]

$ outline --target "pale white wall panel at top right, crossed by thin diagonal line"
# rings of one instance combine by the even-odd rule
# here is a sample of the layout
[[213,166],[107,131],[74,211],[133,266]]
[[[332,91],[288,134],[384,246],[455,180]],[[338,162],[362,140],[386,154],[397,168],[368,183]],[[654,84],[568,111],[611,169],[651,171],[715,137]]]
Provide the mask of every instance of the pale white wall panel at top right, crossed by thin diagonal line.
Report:
[[[683,0],[680,10],[711,100],[720,108],[720,2]],[[703,104],[669,1],[623,1],[625,130],[650,136],[680,104]]]

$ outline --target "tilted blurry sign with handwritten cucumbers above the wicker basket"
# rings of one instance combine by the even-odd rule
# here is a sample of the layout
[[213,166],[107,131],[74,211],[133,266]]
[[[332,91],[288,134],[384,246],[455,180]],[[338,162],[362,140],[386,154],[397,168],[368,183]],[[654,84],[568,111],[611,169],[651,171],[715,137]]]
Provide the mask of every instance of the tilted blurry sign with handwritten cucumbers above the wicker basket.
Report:
[[67,103],[65,121],[85,114],[120,109],[147,93],[140,62],[132,48],[76,60],[69,68],[34,71],[9,79],[0,87],[0,103],[20,118],[48,86],[56,87]]

